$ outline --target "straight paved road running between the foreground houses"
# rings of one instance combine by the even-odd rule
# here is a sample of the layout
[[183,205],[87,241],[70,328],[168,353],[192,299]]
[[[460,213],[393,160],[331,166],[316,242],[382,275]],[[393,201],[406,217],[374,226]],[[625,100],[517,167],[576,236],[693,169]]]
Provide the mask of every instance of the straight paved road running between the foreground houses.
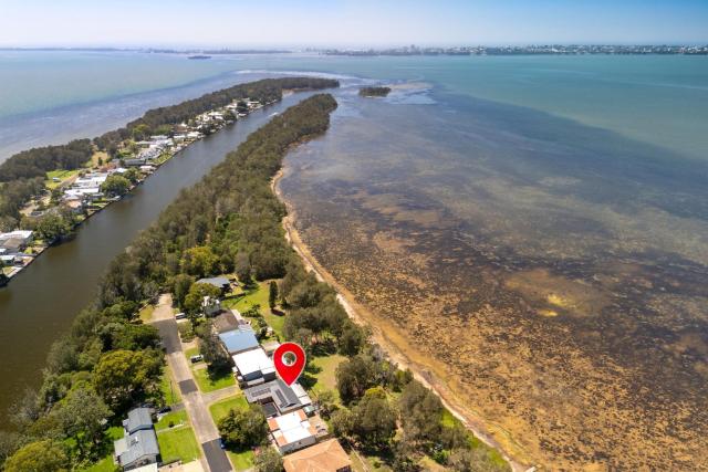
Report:
[[[159,331],[163,346],[167,353],[167,365],[173,371],[175,381],[181,392],[181,401],[187,410],[197,442],[204,449],[207,460],[205,470],[211,472],[227,472],[231,470],[226,452],[219,447],[219,430],[214,423],[209,409],[197,388],[191,369],[181,349],[177,322],[171,310],[171,297],[163,295],[153,312],[153,324]],[[216,445],[216,447],[215,447]],[[204,462],[202,462],[204,464]]]

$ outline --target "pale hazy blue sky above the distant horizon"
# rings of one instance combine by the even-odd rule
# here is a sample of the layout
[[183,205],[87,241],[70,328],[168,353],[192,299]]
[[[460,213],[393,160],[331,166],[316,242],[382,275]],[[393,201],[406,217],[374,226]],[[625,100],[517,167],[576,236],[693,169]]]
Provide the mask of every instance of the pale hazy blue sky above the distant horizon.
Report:
[[708,0],[0,0],[0,45],[706,43]]

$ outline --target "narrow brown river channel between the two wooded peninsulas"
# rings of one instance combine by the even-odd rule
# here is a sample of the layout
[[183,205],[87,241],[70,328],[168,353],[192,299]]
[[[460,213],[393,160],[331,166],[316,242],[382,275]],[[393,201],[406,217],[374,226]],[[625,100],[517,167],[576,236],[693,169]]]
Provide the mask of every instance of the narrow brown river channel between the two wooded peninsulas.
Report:
[[0,429],[27,387],[37,387],[49,348],[92,302],[107,264],[146,229],[179,191],[198,181],[275,112],[310,94],[290,95],[253,112],[176,155],[131,196],[95,214],[76,237],[50,248],[0,289]]

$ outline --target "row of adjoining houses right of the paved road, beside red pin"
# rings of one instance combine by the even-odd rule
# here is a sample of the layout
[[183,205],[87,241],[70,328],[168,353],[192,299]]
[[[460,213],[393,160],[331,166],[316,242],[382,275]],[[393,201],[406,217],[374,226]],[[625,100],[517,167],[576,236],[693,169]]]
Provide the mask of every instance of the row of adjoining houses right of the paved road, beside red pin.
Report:
[[331,438],[304,388],[298,382],[288,386],[278,377],[272,356],[280,343],[259,343],[250,322],[236,310],[219,313],[214,327],[233,361],[246,400],[263,410],[271,443],[284,455],[285,471],[351,471],[348,455]]

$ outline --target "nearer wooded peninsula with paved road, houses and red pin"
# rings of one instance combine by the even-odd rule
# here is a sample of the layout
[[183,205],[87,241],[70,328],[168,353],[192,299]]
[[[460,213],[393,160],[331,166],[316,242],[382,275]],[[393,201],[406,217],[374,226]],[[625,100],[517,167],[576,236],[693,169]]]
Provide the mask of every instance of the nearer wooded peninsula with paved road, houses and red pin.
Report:
[[[336,106],[320,94],[274,116],[111,264],[53,346],[42,388],[18,405],[23,437],[6,470],[201,457],[210,470],[295,470],[322,454],[364,470],[509,470],[372,344],[284,238],[272,179]],[[268,367],[280,340],[308,352],[292,387]]]

